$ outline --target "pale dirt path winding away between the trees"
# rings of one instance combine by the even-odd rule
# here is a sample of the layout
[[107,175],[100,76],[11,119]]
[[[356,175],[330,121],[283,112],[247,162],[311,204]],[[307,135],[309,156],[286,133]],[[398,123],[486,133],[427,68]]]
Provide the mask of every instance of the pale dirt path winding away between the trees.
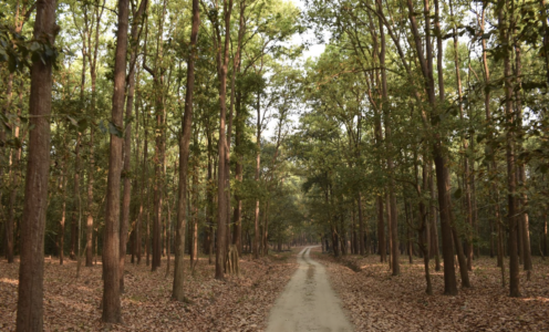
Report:
[[324,267],[310,258],[311,248],[298,255],[298,271],[271,309],[267,332],[353,331]]

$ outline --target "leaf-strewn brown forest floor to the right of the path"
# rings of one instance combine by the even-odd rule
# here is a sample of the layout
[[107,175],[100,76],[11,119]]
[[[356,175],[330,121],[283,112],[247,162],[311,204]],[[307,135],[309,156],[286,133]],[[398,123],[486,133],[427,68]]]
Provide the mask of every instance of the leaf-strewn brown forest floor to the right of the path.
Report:
[[392,277],[376,255],[334,259],[318,248],[312,257],[325,266],[356,331],[549,331],[549,260],[534,258],[530,281],[520,272],[522,297],[512,299],[501,287],[496,259],[474,260],[473,288],[459,289],[456,297],[443,295],[443,272],[432,262],[429,297],[423,259],[410,264],[401,256],[401,276]]

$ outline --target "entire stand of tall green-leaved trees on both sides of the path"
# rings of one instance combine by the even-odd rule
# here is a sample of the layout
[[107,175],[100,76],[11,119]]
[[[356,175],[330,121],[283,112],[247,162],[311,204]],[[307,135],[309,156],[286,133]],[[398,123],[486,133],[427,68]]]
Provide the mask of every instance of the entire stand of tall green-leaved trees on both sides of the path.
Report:
[[[187,251],[222,279],[231,245],[312,239],[394,276],[422,256],[427,293],[441,249],[447,294],[456,255],[463,287],[497,255],[520,295],[549,250],[545,1],[305,3],[2,3],[0,248],[21,258],[21,331],[41,330],[43,253],[102,256],[106,322],[127,249],[153,271],[175,252],[178,301]],[[300,61],[305,25],[331,39]]]

